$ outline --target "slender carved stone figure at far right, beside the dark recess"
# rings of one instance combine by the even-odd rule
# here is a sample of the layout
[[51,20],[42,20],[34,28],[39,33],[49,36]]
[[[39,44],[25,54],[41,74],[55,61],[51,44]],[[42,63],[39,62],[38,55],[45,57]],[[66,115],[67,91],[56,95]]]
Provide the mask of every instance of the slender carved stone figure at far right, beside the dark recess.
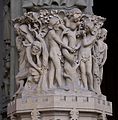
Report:
[[97,37],[97,41],[93,46],[93,77],[94,77],[94,89],[98,94],[101,94],[100,85],[103,79],[103,65],[107,59],[107,44],[104,40],[107,36],[107,30],[101,28],[100,33]]

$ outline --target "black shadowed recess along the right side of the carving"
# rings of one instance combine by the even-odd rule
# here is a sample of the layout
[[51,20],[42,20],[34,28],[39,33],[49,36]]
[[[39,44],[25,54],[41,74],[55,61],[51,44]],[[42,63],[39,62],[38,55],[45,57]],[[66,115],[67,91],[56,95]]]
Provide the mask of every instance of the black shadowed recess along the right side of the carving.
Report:
[[113,116],[108,120],[118,119],[118,13],[117,3],[111,0],[94,0],[94,14],[106,18],[104,27],[108,30],[108,58],[104,65],[101,89],[107,99],[113,103]]

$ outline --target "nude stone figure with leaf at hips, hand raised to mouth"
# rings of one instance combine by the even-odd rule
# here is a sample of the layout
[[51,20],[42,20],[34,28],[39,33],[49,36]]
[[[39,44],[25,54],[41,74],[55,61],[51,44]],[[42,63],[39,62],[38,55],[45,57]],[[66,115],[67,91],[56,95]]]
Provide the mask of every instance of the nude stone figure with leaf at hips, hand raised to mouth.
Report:
[[96,34],[97,32],[93,29],[93,23],[87,21],[79,49],[79,61],[83,87],[90,91],[94,91],[91,49],[96,40]]

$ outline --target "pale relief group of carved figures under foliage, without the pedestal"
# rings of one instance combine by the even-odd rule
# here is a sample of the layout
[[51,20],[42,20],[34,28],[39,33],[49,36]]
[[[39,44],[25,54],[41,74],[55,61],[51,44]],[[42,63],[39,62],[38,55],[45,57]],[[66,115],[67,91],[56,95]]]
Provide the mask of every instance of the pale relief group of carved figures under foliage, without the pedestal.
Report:
[[104,21],[78,8],[41,9],[14,19],[20,84],[16,95],[27,89],[38,94],[59,89],[99,94],[107,58]]

